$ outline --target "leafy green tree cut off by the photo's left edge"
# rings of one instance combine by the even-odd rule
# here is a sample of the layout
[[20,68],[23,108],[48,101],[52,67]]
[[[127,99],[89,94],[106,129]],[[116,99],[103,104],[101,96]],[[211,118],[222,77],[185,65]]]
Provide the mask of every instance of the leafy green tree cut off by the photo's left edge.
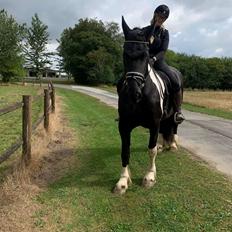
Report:
[[4,82],[23,76],[22,40],[24,25],[18,24],[5,10],[0,11],[0,76]]

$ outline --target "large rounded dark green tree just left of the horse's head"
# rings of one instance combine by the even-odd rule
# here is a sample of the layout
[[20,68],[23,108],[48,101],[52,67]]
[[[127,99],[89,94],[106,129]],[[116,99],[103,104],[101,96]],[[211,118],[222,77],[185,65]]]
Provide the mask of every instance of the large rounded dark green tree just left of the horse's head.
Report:
[[122,36],[116,23],[80,19],[65,29],[59,54],[77,83],[114,83],[122,73]]

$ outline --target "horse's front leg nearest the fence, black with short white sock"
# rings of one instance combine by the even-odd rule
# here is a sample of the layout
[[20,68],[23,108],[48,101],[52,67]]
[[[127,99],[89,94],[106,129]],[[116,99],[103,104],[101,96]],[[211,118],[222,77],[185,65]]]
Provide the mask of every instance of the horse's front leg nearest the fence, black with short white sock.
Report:
[[119,132],[121,136],[121,159],[122,159],[122,171],[120,179],[114,187],[114,193],[123,194],[128,189],[128,185],[132,183],[129,171],[129,159],[130,159],[130,133],[131,130],[122,128],[119,122]]

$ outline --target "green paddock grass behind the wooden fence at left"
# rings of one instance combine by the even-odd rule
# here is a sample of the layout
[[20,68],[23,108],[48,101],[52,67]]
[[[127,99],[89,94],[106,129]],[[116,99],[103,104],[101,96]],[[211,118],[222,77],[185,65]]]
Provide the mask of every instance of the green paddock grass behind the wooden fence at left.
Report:
[[[22,95],[38,95],[41,93],[39,87],[25,86],[0,86],[0,109],[22,101]],[[43,98],[32,103],[32,122],[34,123],[41,114]],[[22,136],[22,110],[7,113],[0,116],[0,155],[14,144]],[[14,158],[12,158],[14,159]],[[3,173],[9,168],[12,159],[0,165],[0,182],[3,180]]]

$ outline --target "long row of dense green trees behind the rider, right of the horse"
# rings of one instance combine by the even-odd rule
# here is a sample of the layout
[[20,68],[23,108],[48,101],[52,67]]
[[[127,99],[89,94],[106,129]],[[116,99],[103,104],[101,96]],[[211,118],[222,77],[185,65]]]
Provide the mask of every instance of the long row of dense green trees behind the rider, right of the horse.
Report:
[[231,58],[202,58],[168,51],[166,59],[181,71],[186,88],[232,89]]

